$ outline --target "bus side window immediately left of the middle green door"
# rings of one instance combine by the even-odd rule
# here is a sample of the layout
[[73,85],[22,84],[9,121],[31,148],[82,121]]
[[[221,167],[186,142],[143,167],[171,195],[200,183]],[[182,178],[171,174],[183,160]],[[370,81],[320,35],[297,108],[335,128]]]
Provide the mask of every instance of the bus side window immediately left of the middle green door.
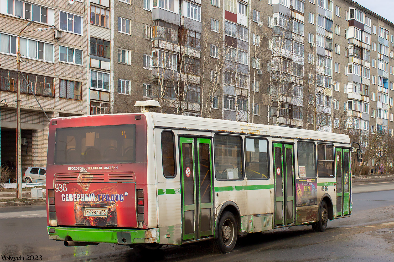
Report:
[[245,174],[248,180],[268,179],[268,141],[245,138]]

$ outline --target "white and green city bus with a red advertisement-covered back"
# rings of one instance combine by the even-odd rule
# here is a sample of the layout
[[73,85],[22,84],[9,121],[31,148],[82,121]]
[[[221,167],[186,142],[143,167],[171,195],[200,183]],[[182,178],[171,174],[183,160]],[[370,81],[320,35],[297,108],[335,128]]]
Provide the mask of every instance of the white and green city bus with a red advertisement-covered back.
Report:
[[149,112],[50,121],[50,239],[156,249],[351,214],[349,136]]

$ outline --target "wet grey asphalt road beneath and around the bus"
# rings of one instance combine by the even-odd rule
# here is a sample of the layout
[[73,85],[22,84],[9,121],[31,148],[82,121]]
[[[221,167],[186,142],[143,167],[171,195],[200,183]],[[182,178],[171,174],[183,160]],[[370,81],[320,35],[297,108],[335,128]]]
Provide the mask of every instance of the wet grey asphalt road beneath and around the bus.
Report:
[[65,247],[63,242],[48,239],[45,216],[45,206],[2,207],[1,255],[22,255],[25,260],[28,255],[42,256],[43,261],[394,260],[393,182],[354,185],[352,215],[329,221],[325,232],[296,226],[253,233],[238,238],[228,254],[219,253],[210,241],[149,252],[111,244]]

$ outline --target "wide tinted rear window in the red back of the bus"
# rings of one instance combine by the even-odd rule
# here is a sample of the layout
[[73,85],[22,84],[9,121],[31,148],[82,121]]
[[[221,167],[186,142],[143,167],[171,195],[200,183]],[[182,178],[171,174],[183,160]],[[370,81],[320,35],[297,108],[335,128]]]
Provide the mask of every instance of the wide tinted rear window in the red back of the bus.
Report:
[[133,163],[136,125],[56,129],[55,164]]

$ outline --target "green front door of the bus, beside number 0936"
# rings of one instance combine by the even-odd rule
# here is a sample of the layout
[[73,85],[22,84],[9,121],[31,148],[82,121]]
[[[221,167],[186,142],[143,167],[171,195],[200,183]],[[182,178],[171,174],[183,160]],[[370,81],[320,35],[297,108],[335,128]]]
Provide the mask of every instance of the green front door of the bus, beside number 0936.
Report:
[[336,156],[336,216],[350,213],[350,150],[335,148]]

